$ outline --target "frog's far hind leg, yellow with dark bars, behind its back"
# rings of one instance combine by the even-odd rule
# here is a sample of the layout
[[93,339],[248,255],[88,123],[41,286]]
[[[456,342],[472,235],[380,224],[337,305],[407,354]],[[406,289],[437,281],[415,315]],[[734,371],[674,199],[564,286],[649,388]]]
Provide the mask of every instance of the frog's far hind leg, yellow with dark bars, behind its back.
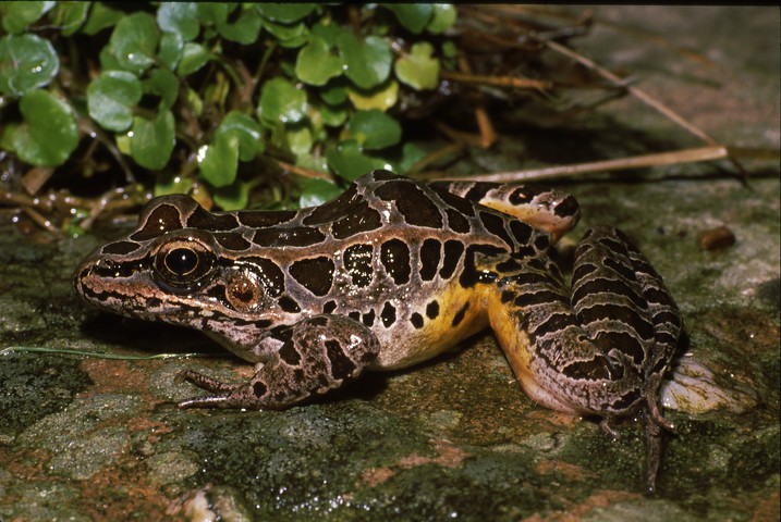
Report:
[[485,182],[434,182],[431,188],[510,214],[558,240],[575,227],[581,209],[574,196],[549,188]]

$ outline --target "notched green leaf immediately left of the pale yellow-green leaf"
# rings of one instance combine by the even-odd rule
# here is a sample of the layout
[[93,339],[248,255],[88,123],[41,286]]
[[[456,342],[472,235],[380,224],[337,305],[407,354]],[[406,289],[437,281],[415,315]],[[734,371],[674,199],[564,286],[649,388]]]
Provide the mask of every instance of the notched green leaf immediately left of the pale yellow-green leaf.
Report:
[[370,89],[388,78],[393,57],[385,39],[369,36],[359,42],[354,34],[343,32],[337,40],[346,66],[345,74],[359,88]]

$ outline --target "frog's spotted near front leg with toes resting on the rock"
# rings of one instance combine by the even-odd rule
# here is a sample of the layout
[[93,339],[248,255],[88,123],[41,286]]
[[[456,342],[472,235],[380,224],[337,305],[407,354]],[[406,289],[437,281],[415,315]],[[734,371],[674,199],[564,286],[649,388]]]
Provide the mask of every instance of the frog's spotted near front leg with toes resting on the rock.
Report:
[[259,352],[272,356],[258,363],[248,383],[225,384],[192,370],[179,378],[212,391],[180,407],[280,409],[321,395],[356,378],[379,353],[375,334],[346,316],[315,315],[265,337]]

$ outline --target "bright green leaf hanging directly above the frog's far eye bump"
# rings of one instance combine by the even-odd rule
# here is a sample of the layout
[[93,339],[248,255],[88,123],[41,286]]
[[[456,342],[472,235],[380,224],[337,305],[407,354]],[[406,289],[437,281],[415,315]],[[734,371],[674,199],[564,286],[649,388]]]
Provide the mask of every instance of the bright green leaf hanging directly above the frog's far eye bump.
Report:
[[168,163],[175,142],[171,111],[160,111],[155,120],[133,119],[131,156],[141,166],[160,170]]

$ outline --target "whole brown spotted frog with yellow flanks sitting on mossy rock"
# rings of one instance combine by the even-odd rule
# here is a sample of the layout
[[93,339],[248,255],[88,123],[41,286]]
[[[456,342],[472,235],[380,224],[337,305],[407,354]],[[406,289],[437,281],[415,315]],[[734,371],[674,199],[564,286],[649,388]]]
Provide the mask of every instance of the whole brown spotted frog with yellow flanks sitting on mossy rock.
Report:
[[682,321],[613,228],[586,233],[566,285],[553,244],[578,216],[566,194],[387,171],[298,211],[209,213],[164,196],[73,283],[100,308],[200,330],[256,364],[241,384],[183,372],[210,391],[183,407],[285,408],[490,326],[537,402],[598,415],[610,433],[610,420],[645,413],[652,488],[660,427],[672,428],[657,394]]

